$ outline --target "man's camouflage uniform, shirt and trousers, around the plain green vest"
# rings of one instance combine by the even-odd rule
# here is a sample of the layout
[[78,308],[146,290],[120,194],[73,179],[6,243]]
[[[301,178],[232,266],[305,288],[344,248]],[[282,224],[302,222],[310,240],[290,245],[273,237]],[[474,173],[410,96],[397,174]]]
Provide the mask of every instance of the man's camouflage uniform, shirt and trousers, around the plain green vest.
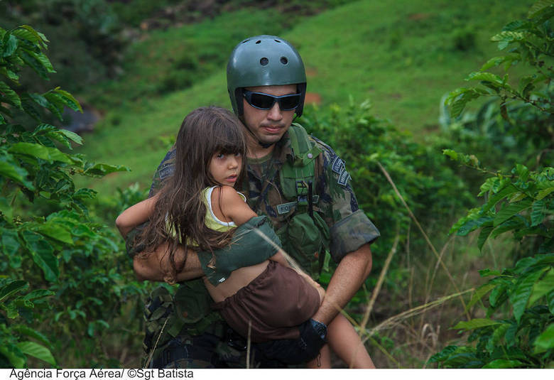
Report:
[[[356,197],[349,185],[350,176],[344,161],[322,141],[313,136],[309,139],[322,151],[315,158],[313,214],[319,215],[325,222],[324,227],[330,241],[328,249],[332,259],[339,262],[349,252],[374,241],[379,237],[379,231],[364,212],[359,210]],[[241,189],[237,189],[246,192],[252,210],[258,215],[269,217],[278,234],[290,222],[290,216],[295,215],[298,207],[296,202],[283,198],[279,177],[283,163],[291,156],[293,149],[287,132],[283,139],[276,143],[273,154],[259,160],[248,159],[247,175],[244,183],[240,184]],[[154,175],[149,196],[155,194],[161,188],[163,180],[171,175],[174,159],[174,150],[169,151],[163,158]],[[132,239],[132,235],[130,236],[128,242]],[[128,244],[129,252],[132,254],[131,248]],[[294,259],[317,278],[317,273],[313,269],[320,270],[320,265],[317,265],[322,262],[320,252],[315,251],[311,258]],[[210,310],[211,302],[200,279],[180,284],[175,294],[175,302],[170,299],[167,291],[161,288],[153,292],[146,304],[145,359],[160,335],[159,326],[165,323],[165,329],[156,345],[150,367],[158,367],[161,363],[169,363],[168,367],[183,368],[245,366],[246,342],[229,329],[219,314]],[[171,347],[179,346],[190,352],[187,359],[175,358],[175,355],[172,357],[168,354],[172,352]],[[159,358],[164,355],[165,360],[160,361]],[[259,353],[254,350],[251,367],[279,367],[279,364],[259,360]]]

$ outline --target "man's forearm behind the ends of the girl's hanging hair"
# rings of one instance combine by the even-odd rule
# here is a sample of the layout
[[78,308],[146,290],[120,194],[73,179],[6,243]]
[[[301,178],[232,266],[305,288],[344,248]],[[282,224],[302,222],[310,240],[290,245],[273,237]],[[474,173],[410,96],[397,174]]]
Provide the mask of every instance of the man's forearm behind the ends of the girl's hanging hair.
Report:
[[[133,269],[136,274],[136,278],[139,281],[163,281],[165,273],[172,271],[169,261],[168,244],[162,244],[158,246],[156,251],[148,254],[145,258],[141,258],[141,254],[136,254],[133,258]],[[178,245],[175,249],[175,264],[179,268],[185,261],[185,249],[183,246]],[[188,249],[188,254],[185,261],[183,270],[177,273],[177,281],[192,280],[192,278],[198,278],[204,276],[200,260],[195,251]]]

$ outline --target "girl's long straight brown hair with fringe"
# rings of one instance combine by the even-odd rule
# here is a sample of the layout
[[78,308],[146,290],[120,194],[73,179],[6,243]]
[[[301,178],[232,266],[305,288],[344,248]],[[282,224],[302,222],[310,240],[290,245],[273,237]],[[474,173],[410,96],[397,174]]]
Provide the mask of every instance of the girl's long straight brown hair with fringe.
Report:
[[[168,242],[169,261],[174,273],[165,276],[174,282],[175,273],[183,269],[188,245],[194,242],[200,251],[213,251],[227,246],[232,232],[216,232],[206,227],[206,206],[200,197],[202,190],[219,185],[210,174],[214,153],[236,154],[243,157],[241,183],[244,175],[246,141],[241,122],[232,112],[220,107],[201,107],[190,112],[179,129],[175,141],[175,170],[165,180],[150,220],[139,235],[138,244],[144,244],[143,255],[151,254]],[[178,238],[178,239],[176,239]],[[185,249],[185,261],[180,268],[175,264],[178,244]]]

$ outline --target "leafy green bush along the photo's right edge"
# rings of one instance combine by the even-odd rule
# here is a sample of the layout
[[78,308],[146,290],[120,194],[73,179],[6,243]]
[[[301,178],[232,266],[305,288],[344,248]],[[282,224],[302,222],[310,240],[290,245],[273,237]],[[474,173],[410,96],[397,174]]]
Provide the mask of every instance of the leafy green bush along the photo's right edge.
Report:
[[[474,155],[445,150],[452,159],[489,175],[479,194],[486,202],[470,210],[452,232],[466,235],[479,229],[479,249],[487,239],[505,234],[511,234],[519,245],[514,251],[514,267],[479,271],[482,276],[495,277],[477,288],[468,308],[479,305],[489,294],[488,303],[483,305],[486,317],[454,327],[471,334],[467,344],[448,346],[431,357],[430,362],[441,367],[551,368],[554,364],[554,168],[543,154],[552,149],[554,141],[553,16],[551,1],[538,1],[526,20],[506,25],[492,40],[499,42],[500,50],[510,46],[509,53],[492,58],[480,72],[469,75],[468,80],[479,80],[480,87],[457,89],[446,100],[452,114],[458,116],[472,99],[499,99],[502,121],[496,117],[482,125],[475,119],[477,123],[468,124],[475,127],[470,133],[480,129],[485,132],[483,137],[496,136],[494,148],[500,152],[507,150],[511,139],[516,151],[527,153],[520,159],[535,156],[536,169],[529,170],[520,162],[508,171],[504,162],[500,170],[491,172]],[[517,89],[508,82],[508,70],[516,64],[524,64],[531,71],[518,78]],[[485,71],[497,65],[504,65],[504,77]],[[516,104],[509,107],[509,99]]]

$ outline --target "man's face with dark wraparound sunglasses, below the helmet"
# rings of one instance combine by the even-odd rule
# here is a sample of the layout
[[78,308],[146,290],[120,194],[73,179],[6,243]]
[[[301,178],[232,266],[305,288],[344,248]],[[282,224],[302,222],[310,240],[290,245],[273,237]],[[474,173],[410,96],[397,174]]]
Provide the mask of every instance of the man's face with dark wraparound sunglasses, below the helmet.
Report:
[[[277,97],[296,93],[296,85],[257,86],[246,87],[246,89]],[[244,124],[262,143],[276,143],[281,140],[283,134],[288,131],[290,123],[293,122],[295,110],[281,111],[278,102],[275,102],[273,107],[268,110],[254,108],[244,98],[242,102],[244,107]]]

